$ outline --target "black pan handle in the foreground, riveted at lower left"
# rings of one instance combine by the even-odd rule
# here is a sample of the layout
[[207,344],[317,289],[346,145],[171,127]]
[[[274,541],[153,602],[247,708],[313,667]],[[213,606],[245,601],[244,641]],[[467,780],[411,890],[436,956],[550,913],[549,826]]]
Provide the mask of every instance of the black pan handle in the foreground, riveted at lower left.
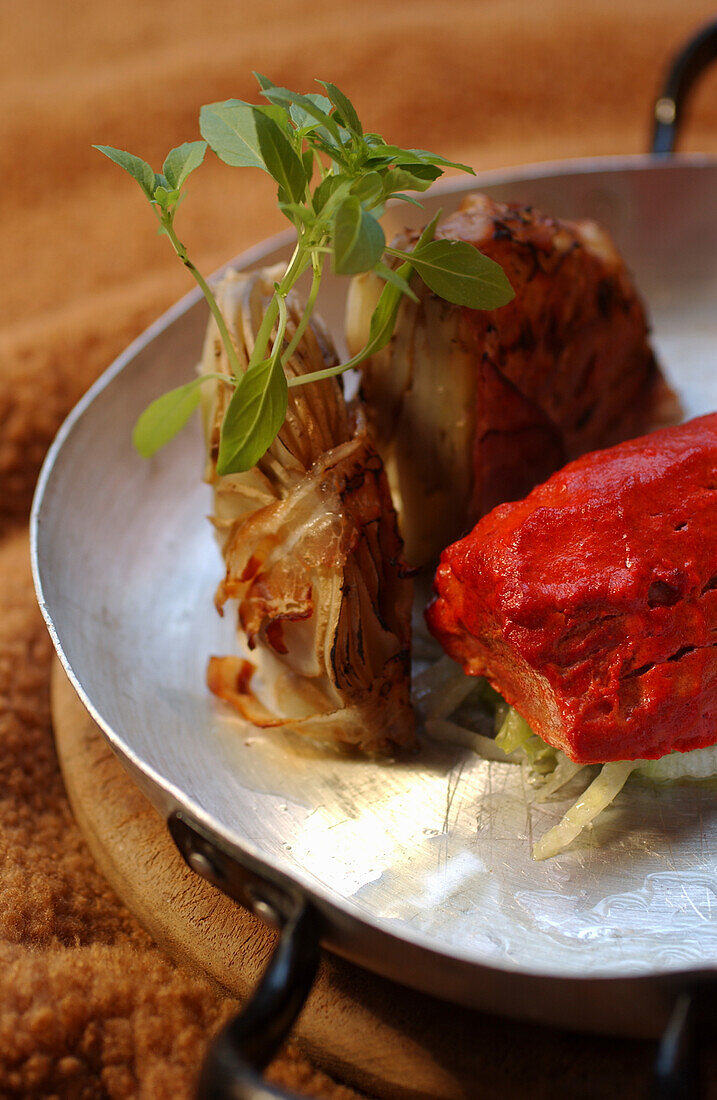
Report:
[[249,856],[225,851],[184,814],[173,814],[167,824],[192,871],[282,930],[251,1000],[207,1052],[197,1100],[299,1100],[295,1092],[267,1085],[261,1074],[280,1049],[311,991],[319,965],[319,915],[296,888],[267,878]]

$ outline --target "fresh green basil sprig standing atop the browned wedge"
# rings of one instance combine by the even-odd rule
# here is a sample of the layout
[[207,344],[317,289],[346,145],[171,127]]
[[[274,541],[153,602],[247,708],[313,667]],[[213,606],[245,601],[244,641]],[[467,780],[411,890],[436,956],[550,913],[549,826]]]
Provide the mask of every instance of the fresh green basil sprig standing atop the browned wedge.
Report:
[[[181,263],[200,286],[214,317],[231,376],[206,375],[153,402],[133,433],[148,457],[172,439],[199,403],[199,386],[221,377],[233,387],[221,428],[217,472],[251,469],[272,444],[284,422],[288,386],[306,385],[341,374],[390,340],[404,295],[416,298],[409,280],[417,273],[426,285],[459,306],[496,309],[514,297],[503,268],[463,241],[434,240],[438,219],[426,228],[410,252],[386,244],[379,219],[389,199],[416,204],[406,191],[427,190],[445,167],[473,173],[464,164],[420,148],[389,145],[380,134],[365,133],[351,100],[335,85],[318,81],[322,94],[301,95],[255,74],[266,103],[229,99],[202,107],[203,141],[172,150],[162,173],[137,156],[96,145],[124,168],[153,206]],[[174,229],[189,175],[202,163],[207,145],[236,167],[260,168],[277,185],[279,209],[296,229],[294,253],[275,284],[252,356],[242,371],[224,318],[206,279],[187,255]],[[418,204],[420,205],[420,204]],[[284,364],[294,353],[311,318],[327,257],[338,275],[375,272],[384,289],[371,319],[365,346],[338,366],[288,381]],[[394,263],[386,263],[391,257]],[[397,262],[397,263],[396,263]],[[297,279],[312,272],[311,290],[290,341],[286,298]]]

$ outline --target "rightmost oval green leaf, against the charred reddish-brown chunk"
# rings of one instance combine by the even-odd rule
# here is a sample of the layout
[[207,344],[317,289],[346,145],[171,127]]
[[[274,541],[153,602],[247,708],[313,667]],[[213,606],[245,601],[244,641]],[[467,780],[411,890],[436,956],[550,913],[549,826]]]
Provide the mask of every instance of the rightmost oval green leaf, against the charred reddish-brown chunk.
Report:
[[431,290],[456,306],[497,309],[515,297],[500,264],[466,241],[417,245],[410,263]]

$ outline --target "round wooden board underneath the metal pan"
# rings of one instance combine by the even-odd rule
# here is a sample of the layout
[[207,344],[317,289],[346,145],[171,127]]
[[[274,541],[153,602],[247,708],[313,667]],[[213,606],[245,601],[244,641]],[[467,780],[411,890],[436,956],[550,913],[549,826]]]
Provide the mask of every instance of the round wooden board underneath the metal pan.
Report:
[[[108,881],[175,959],[244,1000],[275,933],[194,875],[166,825],[107,745],[56,662],[52,713],[69,801]],[[333,955],[295,1038],[368,1096],[598,1100],[642,1096],[653,1044],[575,1035],[459,1009]]]

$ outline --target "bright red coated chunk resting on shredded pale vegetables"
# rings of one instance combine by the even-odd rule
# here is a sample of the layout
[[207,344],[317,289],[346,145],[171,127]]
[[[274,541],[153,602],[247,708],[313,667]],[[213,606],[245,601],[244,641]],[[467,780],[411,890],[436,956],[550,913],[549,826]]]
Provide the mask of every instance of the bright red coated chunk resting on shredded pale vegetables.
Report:
[[429,626],[580,763],[717,743],[717,414],[595,451],[443,551]]

